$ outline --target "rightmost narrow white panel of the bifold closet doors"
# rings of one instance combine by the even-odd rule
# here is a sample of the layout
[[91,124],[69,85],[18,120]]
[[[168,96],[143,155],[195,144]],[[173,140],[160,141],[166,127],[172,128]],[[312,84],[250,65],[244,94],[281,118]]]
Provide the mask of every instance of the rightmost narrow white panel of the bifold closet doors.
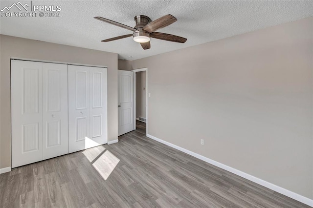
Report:
[[107,69],[89,67],[90,139],[97,145],[108,143]]

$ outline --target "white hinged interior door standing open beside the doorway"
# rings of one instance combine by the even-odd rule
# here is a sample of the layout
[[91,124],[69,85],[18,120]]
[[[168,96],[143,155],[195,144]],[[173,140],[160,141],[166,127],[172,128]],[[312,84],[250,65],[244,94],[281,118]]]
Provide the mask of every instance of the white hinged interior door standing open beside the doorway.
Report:
[[118,70],[118,136],[134,130],[134,73]]

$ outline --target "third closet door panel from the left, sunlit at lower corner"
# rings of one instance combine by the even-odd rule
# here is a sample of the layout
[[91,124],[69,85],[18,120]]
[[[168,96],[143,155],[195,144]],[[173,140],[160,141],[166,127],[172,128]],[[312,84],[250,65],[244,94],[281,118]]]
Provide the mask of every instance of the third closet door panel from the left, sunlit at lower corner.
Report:
[[68,65],[68,152],[89,148],[89,67]]

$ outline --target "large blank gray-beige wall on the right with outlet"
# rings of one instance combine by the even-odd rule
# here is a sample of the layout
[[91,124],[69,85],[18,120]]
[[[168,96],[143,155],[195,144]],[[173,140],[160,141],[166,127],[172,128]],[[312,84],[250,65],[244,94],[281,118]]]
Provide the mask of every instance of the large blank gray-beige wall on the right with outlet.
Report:
[[313,199],[312,51],[308,18],[135,60],[148,133]]

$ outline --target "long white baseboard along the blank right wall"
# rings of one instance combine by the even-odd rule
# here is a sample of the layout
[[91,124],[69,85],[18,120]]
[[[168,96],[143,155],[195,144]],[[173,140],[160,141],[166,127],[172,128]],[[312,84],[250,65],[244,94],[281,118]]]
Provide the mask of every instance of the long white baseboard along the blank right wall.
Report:
[[307,198],[307,197],[305,197],[305,196],[302,196],[302,195],[300,195],[300,194],[294,193],[294,192],[292,192],[292,191],[290,191],[290,190],[287,190],[286,188],[279,187],[279,186],[276,186],[276,185],[274,185],[274,184],[271,184],[271,183],[269,183],[269,182],[267,182],[267,181],[264,181],[264,180],[262,180],[262,179],[259,179],[259,178],[257,178],[257,177],[254,177],[254,176],[252,176],[252,175],[249,175],[249,174],[247,174],[247,173],[245,173],[245,172],[242,172],[242,171],[240,171],[240,170],[237,170],[237,169],[235,169],[235,168],[233,168],[233,167],[226,166],[226,165],[224,165],[224,164],[222,164],[222,163],[219,163],[219,162],[217,162],[217,161],[211,160],[211,159],[209,159],[209,158],[207,158],[207,157],[204,157],[204,156],[202,156],[202,155],[200,155],[200,154],[197,154],[197,153],[195,153],[195,152],[192,152],[192,151],[190,151],[190,150],[188,150],[188,149],[184,149],[184,148],[182,148],[182,147],[180,147],[180,146],[173,145],[172,143],[169,143],[169,142],[166,142],[166,141],[161,140],[161,139],[159,139],[159,138],[156,138],[156,137],[154,137],[154,136],[152,136],[152,135],[150,135],[150,134],[147,134],[147,137],[149,137],[150,139],[156,140],[157,142],[160,142],[160,143],[162,143],[162,144],[164,144],[164,145],[171,146],[171,147],[173,147],[173,148],[175,148],[175,149],[178,149],[178,150],[180,150],[180,151],[182,151],[182,152],[184,152],[184,153],[186,153],[186,154],[189,154],[189,155],[191,155],[191,156],[194,156],[194,157],[196,157],[196,158],[198,158],[198,159],[200,159],[200,160],[203,160],[203,161],[205,161],[205,162],[207,162],[207,163],[209,163],[209,164],[212,164],[212,165],[214,165],[214,166],[218,166],[218,167],[220,167],[220,168],[222,168],[222,169],[224,169],[224,170],[227,170],[227,171],[229,171],[229,172],[231,172],[231,173],[234,173],[234,174],[236,174],[236,175],[239,175],[239,176],[241,176],[241,177],[243,177],[243,178],[245,178],[245,179],[247,179],[247,180],[249,180],[249,181],[252,181],[252,182],[254,182],[254,183],[256,183],[256,184],[259,184],[259,185],[261,185],[261,186],[264,186],[264,187],[267,187],[267,188],[269,188],[269,189],[272,189],[272,190],[274,190],[274,191],[276,191],[276,192],[278,192],[278,193],[281,193],[281,194],[283,194],[283,195],[285,195],[285,196],[288,196],[288,197],[290,197],[290,198],[292,198],[292,199],[294,199],[294,200],[297,200],[297,201],[299,201],[299,202],[302,202],[303,204],[306,204],[306,205],[308,205],[308,206],[313,207],[313,200],[312,200],[312,199],[309,199],[309,198]]

